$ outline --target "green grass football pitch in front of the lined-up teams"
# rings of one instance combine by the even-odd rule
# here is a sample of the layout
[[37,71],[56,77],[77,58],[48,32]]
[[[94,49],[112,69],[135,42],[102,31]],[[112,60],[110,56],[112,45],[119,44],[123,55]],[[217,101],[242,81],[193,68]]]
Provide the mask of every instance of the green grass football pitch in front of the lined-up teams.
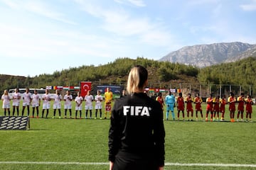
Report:
[[[0,169],[109,168],[110,120],[52,119],[52,115],[50,109],[48,119],[31,118],[30,130],[0,130]],[[165,169],[256,169],[255,122],[164,121],[164,125]]]

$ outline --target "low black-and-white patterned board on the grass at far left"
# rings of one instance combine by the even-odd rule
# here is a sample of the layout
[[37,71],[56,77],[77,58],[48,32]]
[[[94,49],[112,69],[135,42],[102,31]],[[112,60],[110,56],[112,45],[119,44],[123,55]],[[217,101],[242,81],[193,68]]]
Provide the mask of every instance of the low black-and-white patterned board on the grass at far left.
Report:
[[0,130],[29,130],[27,116],[0,116]]

